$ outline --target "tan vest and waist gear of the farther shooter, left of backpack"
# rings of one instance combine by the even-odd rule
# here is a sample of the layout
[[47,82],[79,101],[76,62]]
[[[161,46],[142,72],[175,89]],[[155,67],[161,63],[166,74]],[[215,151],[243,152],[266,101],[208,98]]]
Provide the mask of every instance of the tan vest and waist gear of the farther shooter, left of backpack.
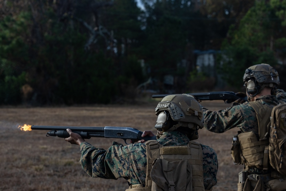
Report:
[[[269,170],[272,168],[272,164],[270,165],[269,163],[269,156],[271,156],[271,152],[274,150],[274,148],[269,146],[269,132],[272,125],[271,120],[273,122],[273,119],[271,119],[274,111],[273,107],[276,108],[277,106],[265,105],[258,101],[252,101],[249,104],[257,114],[259,138],[253,131],[239,133],[234,136],[231,154],[235,163],[245,165],[245,170],[253,167]],[[253,190],[251,187],[255,187],[254,191],[264,189],[281,191],[286,188],[285,175],[280,174],[276,170],[272,169],[271,173],[263,175],[250,174],[245,176],[243,175],[245,173],[241,172],[239,174],[239,191],[251,191]]]

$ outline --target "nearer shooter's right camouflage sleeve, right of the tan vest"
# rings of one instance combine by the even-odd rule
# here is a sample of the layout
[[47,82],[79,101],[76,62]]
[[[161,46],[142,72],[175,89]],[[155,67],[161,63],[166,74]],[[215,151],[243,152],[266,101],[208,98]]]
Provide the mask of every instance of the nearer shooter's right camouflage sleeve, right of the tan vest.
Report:
[[[202,144],[201,144],[202,145]],[[210,190],[217,184],[217,153],[209,146],[202,145],[204,188]]]

